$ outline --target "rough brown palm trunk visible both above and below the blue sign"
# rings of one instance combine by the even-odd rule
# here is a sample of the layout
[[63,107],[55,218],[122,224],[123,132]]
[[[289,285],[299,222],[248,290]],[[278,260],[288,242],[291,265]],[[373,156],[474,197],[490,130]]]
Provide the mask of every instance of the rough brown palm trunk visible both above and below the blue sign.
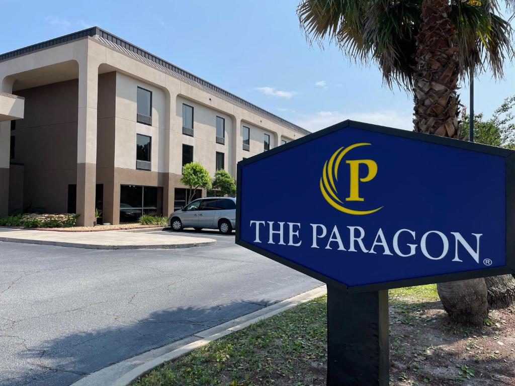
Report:
[[[459,138],[456,28],[446,0],[423,0],[414,76],[415,131]],[[488,317],[483,278],[437,285],[443,308],[458,323],[482,325]]]

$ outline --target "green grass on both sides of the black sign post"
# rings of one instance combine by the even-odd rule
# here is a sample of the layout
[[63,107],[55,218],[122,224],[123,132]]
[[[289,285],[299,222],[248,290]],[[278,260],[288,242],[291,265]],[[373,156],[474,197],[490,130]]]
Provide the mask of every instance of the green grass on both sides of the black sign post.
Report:
[[[389,297],[405,324],[413,323],[413,307],[438,300],[436,285],[393,289]],[[326,366],[322,296],[165,363],[133,386],[315,386],[325,384]]]

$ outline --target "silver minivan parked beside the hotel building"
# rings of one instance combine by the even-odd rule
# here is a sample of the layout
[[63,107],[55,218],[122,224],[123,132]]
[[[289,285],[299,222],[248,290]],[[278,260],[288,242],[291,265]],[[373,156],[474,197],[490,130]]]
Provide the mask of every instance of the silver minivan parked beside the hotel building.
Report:
[[174,231],[193,227],[199,231],[211,228],[221,234],[230,234],[236,227],[236,199],[232,197],[206,197],[192,201],[168,217]]

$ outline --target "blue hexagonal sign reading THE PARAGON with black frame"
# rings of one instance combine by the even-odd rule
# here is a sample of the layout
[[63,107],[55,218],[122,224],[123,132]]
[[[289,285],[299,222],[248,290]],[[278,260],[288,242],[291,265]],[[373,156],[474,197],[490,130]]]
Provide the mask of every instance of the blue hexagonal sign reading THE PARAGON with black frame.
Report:
[[236,242],[356,291],[512,273],[513,160],[341,122],[238,163]]

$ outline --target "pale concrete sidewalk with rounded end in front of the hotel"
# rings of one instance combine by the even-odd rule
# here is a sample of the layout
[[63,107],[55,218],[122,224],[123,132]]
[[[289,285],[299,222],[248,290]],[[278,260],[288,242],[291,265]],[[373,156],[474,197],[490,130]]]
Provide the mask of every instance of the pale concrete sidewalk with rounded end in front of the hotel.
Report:
[[3,228],[0,241],[29,244],[59,245],[88,249],[173,249],[214,245],[216,240],[178,235],[155,235],[149,233],[105,232],[53,232]]

